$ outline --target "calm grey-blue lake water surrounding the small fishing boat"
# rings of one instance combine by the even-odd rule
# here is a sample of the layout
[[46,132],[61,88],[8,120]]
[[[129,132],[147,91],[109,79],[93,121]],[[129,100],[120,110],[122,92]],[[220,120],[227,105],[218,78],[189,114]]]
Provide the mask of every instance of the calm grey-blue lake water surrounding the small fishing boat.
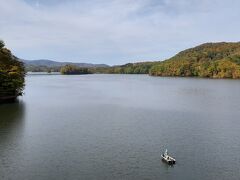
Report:
[[28,75],[0,105],[0,179],[239,180],[240,81]]

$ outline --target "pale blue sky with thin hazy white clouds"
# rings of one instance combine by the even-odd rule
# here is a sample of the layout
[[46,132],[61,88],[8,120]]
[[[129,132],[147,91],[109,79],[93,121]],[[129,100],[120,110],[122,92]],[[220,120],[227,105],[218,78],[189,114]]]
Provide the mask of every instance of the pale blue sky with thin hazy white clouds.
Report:
[[240,41],[239,7],[239,0],[0,0],[0,39],[28,60],[164,60],[202,43]]

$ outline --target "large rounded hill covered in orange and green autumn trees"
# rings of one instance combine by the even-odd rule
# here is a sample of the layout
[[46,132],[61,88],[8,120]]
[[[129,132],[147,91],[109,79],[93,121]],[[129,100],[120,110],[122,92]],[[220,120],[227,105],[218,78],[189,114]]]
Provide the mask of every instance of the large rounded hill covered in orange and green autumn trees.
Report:
[[154,64],[153,76],[240,78],[240,42],[206,43]]

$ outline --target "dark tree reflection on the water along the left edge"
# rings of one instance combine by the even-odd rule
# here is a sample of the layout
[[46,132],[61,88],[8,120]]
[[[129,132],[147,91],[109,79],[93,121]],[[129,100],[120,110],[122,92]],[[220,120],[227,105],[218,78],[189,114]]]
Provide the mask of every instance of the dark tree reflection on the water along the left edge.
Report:
[[17,158],[24,128],[24,115],[25,104],[22,101],[0,105],[0,179],[5,179],[6,164],[14,162]]

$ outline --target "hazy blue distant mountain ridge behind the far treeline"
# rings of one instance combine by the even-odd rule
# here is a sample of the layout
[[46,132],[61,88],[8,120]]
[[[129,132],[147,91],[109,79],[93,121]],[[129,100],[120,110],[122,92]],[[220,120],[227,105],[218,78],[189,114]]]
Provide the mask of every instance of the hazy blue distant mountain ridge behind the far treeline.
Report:
[[94,67],[109,67],[107,64],[92,64],[92,63],[73,63],[73,62],[58,62],[48,59],[39,60],[24,60],[20,59],[27,67],[28,66],[46,66],[46,67],[60,67],[67,64],[76,65],[79,67],[94,68]]

